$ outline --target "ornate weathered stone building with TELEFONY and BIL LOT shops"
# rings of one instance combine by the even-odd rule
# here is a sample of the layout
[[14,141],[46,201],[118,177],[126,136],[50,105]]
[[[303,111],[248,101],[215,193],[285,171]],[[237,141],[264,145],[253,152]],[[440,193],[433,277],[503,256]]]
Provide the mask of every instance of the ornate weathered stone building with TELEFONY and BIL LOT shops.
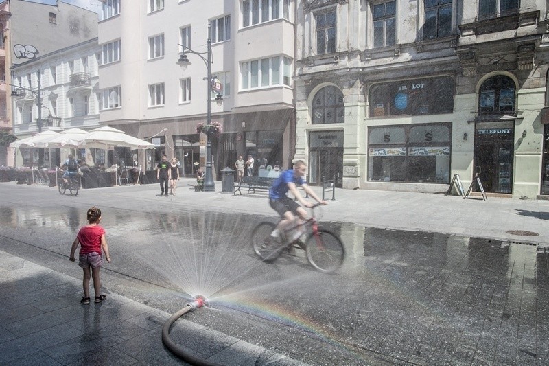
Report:
[[309,182],[445,192],[458,174],[465,190],[478,176],[494,194],[546,194],[546,6],[298,1],[296,156]]

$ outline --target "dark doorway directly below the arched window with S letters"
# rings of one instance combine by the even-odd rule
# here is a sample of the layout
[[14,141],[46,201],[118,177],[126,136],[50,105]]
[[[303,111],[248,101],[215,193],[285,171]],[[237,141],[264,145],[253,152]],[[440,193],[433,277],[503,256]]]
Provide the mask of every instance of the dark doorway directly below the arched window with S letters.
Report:
[[309,176],[307,176],[307,183],[320,185],[323,180],[334,178],[336,187],[342,187],[343,131],[309,133]]

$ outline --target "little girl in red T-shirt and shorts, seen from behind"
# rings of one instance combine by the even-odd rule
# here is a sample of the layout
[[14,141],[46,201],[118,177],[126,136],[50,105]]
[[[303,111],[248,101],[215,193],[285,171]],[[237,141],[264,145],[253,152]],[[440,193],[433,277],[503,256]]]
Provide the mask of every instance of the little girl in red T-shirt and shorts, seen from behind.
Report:
[[[105,252],[105,258],[110,263],[110,254],[105,239],[105,229],[100,227],[101,210],[97,207],[91,207],[86,214],[88,225],[80,228],[71,247],[69,260],[74,262],[74,253],[78,244],[80,244],[80,253],[78,255],[78,265],[84,271],[82,287],[84,296],[80,300],[81,304],[90,303],[90,277],[93,278],[93,290],[95,290],[95,302],[102,302],[106,295],[101,293],[100,268],[103,264],[101,251]],[[90,270],[91,268],[91,270]],[[91,272],[91,273],[90,273]]]

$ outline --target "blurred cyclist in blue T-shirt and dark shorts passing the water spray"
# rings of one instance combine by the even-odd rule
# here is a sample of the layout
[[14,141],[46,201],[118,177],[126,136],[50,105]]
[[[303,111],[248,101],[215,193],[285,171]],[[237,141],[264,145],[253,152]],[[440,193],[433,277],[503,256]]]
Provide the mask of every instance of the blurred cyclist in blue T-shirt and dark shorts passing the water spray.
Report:
[[307,210],[296,203],[292,198],[288,197],[288,191],[292,192],[292,195],[297,198],[299,203],[305,207],[312,207],[313,204],[305,201],[305,198],[301,196],[297,190],[297,185],[301,185],[305,193],[309,194],[321,205],[327,205],[326,201],[321,200],[316,196],[313,190],[307,185],[303,176],[307,173],[307,164],[304,160],[295,159],[292,161],[294,164],[293,169],[285,170],[277,180],[275,180],[269,189],[269,204],[274,211],[277,211],[281,217],[281,220],[274,231],[270,234],[272,240],[280,242],[281,233],[285,227],[292,225],[294,222],[300,224],[299,229],[294,233],[292,240],[297,240],[304,233],[303,222],[307,220]]

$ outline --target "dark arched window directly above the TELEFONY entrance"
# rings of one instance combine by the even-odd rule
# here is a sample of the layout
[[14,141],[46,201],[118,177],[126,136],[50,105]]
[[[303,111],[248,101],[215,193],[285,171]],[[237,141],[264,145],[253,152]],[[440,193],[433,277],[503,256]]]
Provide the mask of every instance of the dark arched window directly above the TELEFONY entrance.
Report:
[[510,111],[515,111],[513,79],[496,75],[484,81],[478,92],[478,114],[498,115]]

